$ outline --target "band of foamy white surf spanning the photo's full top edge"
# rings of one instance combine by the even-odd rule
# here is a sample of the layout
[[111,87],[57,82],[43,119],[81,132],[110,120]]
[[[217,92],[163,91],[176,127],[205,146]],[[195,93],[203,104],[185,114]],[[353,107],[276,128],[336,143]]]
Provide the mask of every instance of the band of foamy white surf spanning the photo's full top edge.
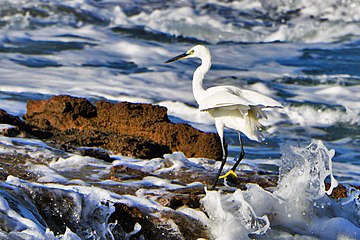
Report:
[[[355,1],[328,0],[318,3],[306,1],[231,1],[213,0],[209,3],[195,0],[187,2],[170,2],[163,7],[136,6],[136,14],[125,14],[127,2],[114,4],[104,2],[101,7],[88,1],[53,1],[55,6],[65,5],[102,19],[108,27],[145,26],[147,30],[162,32],[168,35],[196,38],[211,43],[221,41],[234,42],[333,42],[359,32],[357,24],[360,18],[359,4]],[[211,11],[206,4],[215,6]],[[42,7],[37,1],[12,1],[14,9],[19,6]],[[130,4],[131,5],[131,4]],[[134,4],[132,4],[134,5]],[[156,5],[157,6],[157,5]],[[221,14],[222,6],[230,11],[230,17]],[[134,8],[134,6],[129,6]],[[88,25],[80,18],[64,15],[52,8],[43,7],[49,17],[37,18],[29,12],[8,14],[4,16],[5,28],[28,29],[35,20],[48,23],[58,22],[64,26],[86,28]],[[220,14],[219,14],[220,12]],[[294,14],[296,12],[296,14]],[[248,24],[250,23],[250,24]],[[270,24],[269,24],[270,23]]]

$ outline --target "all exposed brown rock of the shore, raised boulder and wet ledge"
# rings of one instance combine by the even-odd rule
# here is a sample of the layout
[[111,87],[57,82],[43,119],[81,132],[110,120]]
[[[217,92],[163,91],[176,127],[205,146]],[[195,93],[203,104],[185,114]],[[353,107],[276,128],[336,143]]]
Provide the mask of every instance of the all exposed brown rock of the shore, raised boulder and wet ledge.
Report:
[[[158,158],[165,167],[174,164],[173,158],[179,158],[184,163],[190,157],[204,158],[207,161],[221,158],[221,145],[215,134],[201,132],[187,124],[171,123],[166,108],[151,104],[99,101],[94,106],[84,98],[55,96],[48,100],[29,100],[24,121],[0,110],[0,123],[9,125],[1,131],[4,136],[36,138],[58,149],[57,155],[52,158],[78,154],[111,162],[114,160],[112,154],[120,154],[149,161]],[[53,160],[46,156],[8,152],[0,155],[2,181],[14,176],[36,182],[39,176],[29,172],[26,163]],[[86,181],[86,176],[79,176],[79,179]],[[129,239],[211,239],[211,234],[203,223],[178,209],[199,209],[200,200],[205,196],[204,186],[211,185],[214,176],[215,172],[209,174],[208,170],[200,167],[194,171],[193,166],[187,164],[174,172],[154,172],[119,163],[112,166],[106,176],[102,176],[102,179],[118,182],[118,186],[94,186],[120,195],[135,196],[139,194],[138,188],[123,183],[141,182],[143,179],[156,177],[182,187],[157,195],[156,186],[141,185],[142,189],[149,191],[149,198],[166,210],[159,212],[157,209],[117,203],[115,211],[108,216],[109,219],[99,217],[99,221],[118,223],[112,230],[115,239],[123,239],[124,232],[135,231],[136,224],[140,224],[141,229],[135,231]],[[228,184],[233,187],[230,191],[246,189],[248,183],[271,189],[276,186],[277,178],[277,173],[242,171],[237,179],[228,179]],[[201,184],[187,185],[195,181]],[[75,209],[76,206],[74,197],[68,192],[59,194],[59,190],[56,190],[55,194],[35,184],[31,188],[27,186],[21,189],[32,199],[36,209],[41,209],[39,214],[45,221],[44,224],[54,233],[64,234],[66,227],[76,232],[79,226],[85,224],[72,216],[70,209]],[[346,188],[341,185],[331,195],[333,198],[346,196]]]

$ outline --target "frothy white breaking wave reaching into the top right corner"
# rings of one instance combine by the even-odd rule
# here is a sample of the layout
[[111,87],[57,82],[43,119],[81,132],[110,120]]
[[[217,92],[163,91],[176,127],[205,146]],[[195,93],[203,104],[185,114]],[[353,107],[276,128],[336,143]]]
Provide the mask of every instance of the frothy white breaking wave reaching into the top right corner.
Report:
[[[197,1],[196,1],[197,2]],[[175,36],[195,37],[211,43],[221,41],[235,42],[272,42],[272,41],[302,41],[302,42],[331,42],[344,36],[359,32],[357,24],[360,18],[359,8],[355,2],[342,2],[336,0],[323,1],[321,4],[313,0],[293,2],[264,2],[264,1],[233,1],[224,3],[212,1],[215,6],[223,5],[235,11],[246,11],[270,15],[274,19],[286,18],[288,20],[266,25],[263,21],[248,28],[243,24],[220,15],[212,15],[203,9],[204,3],[199,1],[195,6],[187,4],[174,8],[161,8],[154,11],[144,11],[136,15],[126,16],[119,7],[114,10],[114,25],[146,26],[149,29],[168,33]],[[206,9],[206,8],[205,8]],[[255,15],[255,14],[253,14]],[[246,16],[243,16],[246,19]],[[268,19],[267,19],[268,20]],[[244,19],[239,19],[244,21]],[[250,29],[249,29],[250,28]]]

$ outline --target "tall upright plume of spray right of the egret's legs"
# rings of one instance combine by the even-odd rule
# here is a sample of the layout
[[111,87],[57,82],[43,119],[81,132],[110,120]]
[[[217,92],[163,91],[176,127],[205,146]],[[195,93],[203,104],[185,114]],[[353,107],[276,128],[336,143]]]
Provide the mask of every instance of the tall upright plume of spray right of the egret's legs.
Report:
[[[279,197],[288,199],[294,191],[303,190],[307,198],[317,199],[325,193],[330,195],[338,186],[332,173],[334,149],[328,150],[320,140],[313,140],[306,148],[284,148],[288,149],[282,150],[279,187],[276,191]],[[324,181],[327,176],[330,176],[331,186],[326,191]]]

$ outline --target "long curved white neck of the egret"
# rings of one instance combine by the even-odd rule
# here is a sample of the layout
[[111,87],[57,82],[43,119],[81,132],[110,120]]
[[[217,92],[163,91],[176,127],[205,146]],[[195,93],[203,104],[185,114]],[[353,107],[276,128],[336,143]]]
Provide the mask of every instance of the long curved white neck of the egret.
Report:
[[195,70],[193,75],[193,94],[196,102],[199,104],[201,98],[204,96],[203,93],[205,89],[203,88],[203,80],[205,74],[209,71],[211,67],[211,57],[203,57],[201,58],[201,65]]

